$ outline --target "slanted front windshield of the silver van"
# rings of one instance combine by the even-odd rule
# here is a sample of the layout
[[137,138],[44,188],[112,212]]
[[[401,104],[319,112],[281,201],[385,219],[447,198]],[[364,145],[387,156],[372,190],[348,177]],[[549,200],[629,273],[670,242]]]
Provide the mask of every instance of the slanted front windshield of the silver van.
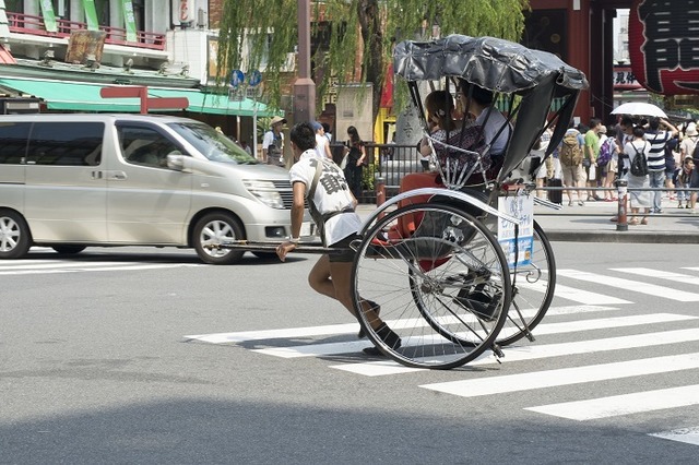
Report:
[[256,165],[258,162],[240,145],[212,127],[197,122],[173,122],[170,128],[212,162]]

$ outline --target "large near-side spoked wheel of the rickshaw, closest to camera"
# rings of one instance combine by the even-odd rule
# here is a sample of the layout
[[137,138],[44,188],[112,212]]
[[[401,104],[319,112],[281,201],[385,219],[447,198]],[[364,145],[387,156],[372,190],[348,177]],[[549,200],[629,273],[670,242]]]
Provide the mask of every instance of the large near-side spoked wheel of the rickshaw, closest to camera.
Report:
[[[353,265],[353,296],[365,333],[408,367],[450,369],[490,348],[505,324],[511,285],[493,234],[450,205],[416,204],[379,219],[364,236]],[[400,337],[384,343],[362,300]]]

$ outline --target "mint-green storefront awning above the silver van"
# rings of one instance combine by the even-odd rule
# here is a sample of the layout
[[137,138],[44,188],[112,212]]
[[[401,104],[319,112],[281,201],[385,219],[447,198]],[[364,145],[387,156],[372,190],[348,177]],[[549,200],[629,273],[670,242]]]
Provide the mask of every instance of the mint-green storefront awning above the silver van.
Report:
[[[138,98],[102,98],[99,90],[110,85],[87,84],[22,78],[0,78],[0,86],[13,88],[22,94],[40,97],[49,110],[135,112],[141,111]],[[149,87],[149,97],[187,97],[187,111],[196,114],[269,117],[264,104],[249,98],[232,102],[227,95],[210,94],[191,88]],[[178,110],[157,110],[178,111]]]

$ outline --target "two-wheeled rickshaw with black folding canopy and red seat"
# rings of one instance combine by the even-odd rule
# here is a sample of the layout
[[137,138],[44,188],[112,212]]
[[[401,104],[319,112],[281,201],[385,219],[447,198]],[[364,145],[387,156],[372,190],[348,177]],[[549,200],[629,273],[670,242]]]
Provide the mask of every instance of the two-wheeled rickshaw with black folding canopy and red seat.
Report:
[[[404,40],[393,60],[425,134],[420,83],[443,81],[446,90],[455,90],[463,81],[505,104],[500,130],[509,135],[495,168],[485,163],[487,144],[430,141],[438,171],[434,184],[399,193],[365,220],[360,239],[351,245],[359,324],[376,347],[408,367],[451,369],[488,349],[499,359],[500,347],[522,337],[533,341],[556,279],[553,250],[529,206],[535,199],[517,179],[517,168],[555,126],[545,157],[552,155],[587,79],[555,55],[494,37]],[[387,344],[372,330],[372,312],[363,310],[362,300],[380,311],[400,345]]]

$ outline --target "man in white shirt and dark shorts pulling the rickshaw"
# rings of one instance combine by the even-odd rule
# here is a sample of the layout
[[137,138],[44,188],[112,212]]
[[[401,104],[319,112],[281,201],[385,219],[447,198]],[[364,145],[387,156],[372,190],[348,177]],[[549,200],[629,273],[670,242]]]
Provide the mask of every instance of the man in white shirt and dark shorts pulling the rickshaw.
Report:
[[[292,204],[292,237],[276,248],[280,260],[296,249],[304,220],[305,203],[311,212],[323,247],[339,249],[340,253],[323,254],[308,275],[308,283],[319,294],[342,303],[355,318],[352,298],[352,265],[355,252],[350,245],[358,239],[362,219],[355,212],[357,200],[337,165],[316,153],[316,131],[308,122],[292,128],[289,139],[294,164],[289,169],[294,201]],[[391,348],[401,346],[401,338],[379,318],[380,308],[369,300],[357,299],[366,320],[376,334]],[[360,332],[359,337],[363,336]],[[376,347],[364,349],[380,355]]]

